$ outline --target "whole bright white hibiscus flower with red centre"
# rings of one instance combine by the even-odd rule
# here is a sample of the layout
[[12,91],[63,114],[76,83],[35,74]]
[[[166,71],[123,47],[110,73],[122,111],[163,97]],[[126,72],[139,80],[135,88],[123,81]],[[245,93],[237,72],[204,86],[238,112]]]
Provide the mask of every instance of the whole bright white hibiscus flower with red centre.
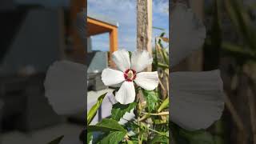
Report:
[[142,72],[151,65],[153,58],[146,50],[134,51],[129,56],[126,50],[118,50],[113,53],[113,61],[119,70],[110,68],[102,71],[102,82],[106,86],[113,86],[122,82],[122,86],[115,94],[115,98],[121,104],[129,104],[135,100],[134,82],[145,90],[154,90],[158,86],[158,72]]

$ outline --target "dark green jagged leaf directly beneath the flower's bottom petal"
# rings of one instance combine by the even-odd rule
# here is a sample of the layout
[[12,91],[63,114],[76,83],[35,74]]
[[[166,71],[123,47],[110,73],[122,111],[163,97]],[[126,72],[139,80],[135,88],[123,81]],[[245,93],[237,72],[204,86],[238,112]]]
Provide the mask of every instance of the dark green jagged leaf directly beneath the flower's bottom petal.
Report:
[[130,112],[130,110],[134,109],[137,105],[136,102],[130,103],[128,105],[122,105],[121,103],[116,103],[113,105],[111,110],[111,118],[119,121],[126,112]]

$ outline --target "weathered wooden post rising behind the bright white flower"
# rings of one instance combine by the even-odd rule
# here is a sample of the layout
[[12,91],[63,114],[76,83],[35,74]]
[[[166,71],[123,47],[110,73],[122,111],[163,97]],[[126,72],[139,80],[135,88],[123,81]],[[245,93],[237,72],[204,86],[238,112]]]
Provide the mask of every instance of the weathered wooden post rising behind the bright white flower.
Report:
[[[137,0],[137,49],[152,55],[152,0]],[[151,66],[147,71],[151,71]]]

